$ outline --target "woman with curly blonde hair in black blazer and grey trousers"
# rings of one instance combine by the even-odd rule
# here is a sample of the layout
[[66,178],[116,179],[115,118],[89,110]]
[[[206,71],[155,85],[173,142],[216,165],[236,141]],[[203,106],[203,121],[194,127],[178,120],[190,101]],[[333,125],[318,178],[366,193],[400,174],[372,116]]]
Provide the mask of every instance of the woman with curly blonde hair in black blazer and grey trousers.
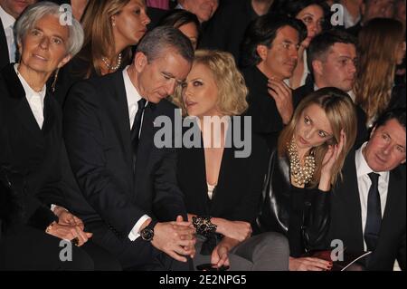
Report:
[[[182,95],[176,98],[184,112],[194,117],[192,123],[200,128],[201,136],[196,147],[184,144],[177,164],[188,220],[199,234],[194,265],[288,270],[289,247],[284,236],[265,233],[251,237],[268,151],[264,140],[251,134],[244,120],[236,117],[247,108],[246,94],[243,77],[230,53],[199,50]],[[219,130],[212,129],[212,121]],[[241,158],[234,142],[239,132],[251,141],[248,156]],[[200,224],[205,223],[203,229]]]

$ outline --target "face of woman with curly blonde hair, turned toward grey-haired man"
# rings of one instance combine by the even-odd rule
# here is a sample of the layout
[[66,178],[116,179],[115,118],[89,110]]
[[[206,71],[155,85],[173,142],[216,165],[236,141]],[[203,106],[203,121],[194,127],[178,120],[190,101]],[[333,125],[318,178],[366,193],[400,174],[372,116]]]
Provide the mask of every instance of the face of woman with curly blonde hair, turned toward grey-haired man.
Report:
[[218,89],[213,72],[204,64],[194,63],[183,84],[182,96],[189,116],[203,119],[204,116],[220,115],[217,107]]

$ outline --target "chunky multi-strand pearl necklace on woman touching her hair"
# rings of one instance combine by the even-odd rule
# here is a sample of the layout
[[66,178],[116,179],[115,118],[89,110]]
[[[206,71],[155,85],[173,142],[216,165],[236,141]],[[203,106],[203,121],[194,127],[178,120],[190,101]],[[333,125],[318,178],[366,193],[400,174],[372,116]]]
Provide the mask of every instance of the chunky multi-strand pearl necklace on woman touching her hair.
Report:
[[288,144],[289,150],[289,169],[291,170],[291,177],[295,184],[299,186],[305,186],[314,176],[315,171],[315,158],[313,155],[309,155],[305,159],[304,167],[301,167],[300,160],[298,158],[298,150],[294,137]]

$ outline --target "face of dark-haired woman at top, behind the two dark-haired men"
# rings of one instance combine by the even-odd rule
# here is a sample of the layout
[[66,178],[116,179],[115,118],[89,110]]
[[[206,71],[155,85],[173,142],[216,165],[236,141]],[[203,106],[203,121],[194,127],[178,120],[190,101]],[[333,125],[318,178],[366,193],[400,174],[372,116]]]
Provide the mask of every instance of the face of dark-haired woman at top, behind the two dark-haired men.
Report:
[[302,9],[296,16],[307,26],[307,38],[301,43],[304,47],[308,48],[311,40],[322,32],[322,25],[324,24],[324,11],[319,5],[309,5]]

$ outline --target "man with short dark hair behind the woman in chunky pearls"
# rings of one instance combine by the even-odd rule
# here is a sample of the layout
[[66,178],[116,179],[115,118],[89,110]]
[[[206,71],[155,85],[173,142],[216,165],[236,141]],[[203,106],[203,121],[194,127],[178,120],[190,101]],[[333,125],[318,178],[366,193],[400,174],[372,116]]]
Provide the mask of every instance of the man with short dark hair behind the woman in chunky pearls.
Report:
[[[351,95],[356,77],[355,38],[341,30],[332,30],[317,35],[308,47],[308,67],[311,77],[306,84],[293,92],[293,98],[302,100],[309,93],[325,87],[336,87]],[[366,115],[356,106],[357,137],[356,146],[367,139]]]

